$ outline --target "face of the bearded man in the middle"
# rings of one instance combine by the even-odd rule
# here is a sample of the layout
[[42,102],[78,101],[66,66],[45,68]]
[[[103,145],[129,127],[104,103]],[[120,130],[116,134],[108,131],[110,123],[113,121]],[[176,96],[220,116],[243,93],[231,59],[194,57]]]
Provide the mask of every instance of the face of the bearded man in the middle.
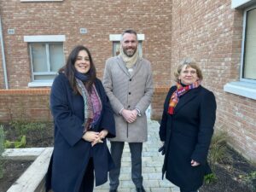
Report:
[[133,56],[137,50],[137,36],[133,33],[125,33],[121,45],[125,55]]

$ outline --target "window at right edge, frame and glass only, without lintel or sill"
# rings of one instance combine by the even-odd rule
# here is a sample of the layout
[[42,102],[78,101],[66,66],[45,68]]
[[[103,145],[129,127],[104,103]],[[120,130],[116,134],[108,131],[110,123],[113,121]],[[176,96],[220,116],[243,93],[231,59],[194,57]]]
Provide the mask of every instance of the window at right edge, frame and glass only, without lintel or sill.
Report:
[[245,10],[244,19],[241,80],[253,82],[256,80],[256,6]]

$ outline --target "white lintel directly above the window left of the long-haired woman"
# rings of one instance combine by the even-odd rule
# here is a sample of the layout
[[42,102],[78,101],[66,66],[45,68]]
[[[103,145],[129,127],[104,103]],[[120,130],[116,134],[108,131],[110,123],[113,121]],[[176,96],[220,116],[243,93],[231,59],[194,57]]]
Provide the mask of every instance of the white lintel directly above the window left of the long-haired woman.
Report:
[[65,35],[30,35],[24,36],[24,42],[64,42]]

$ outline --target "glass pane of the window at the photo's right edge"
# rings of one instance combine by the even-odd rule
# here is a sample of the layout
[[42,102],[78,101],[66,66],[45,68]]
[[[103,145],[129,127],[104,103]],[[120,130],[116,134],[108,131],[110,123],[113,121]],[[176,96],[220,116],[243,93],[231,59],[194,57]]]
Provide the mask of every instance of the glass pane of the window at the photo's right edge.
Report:
[[256,79],[256,9],[247,12],[243,78]]

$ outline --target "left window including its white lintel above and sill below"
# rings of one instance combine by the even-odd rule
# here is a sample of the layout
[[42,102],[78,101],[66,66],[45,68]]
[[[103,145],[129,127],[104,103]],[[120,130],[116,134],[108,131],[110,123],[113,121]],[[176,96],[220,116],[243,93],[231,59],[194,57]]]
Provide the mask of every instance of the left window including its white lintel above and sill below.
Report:
[[51,86],[64,61],[65,35],[24,36],[29,47],[32,82],[28,87]]

